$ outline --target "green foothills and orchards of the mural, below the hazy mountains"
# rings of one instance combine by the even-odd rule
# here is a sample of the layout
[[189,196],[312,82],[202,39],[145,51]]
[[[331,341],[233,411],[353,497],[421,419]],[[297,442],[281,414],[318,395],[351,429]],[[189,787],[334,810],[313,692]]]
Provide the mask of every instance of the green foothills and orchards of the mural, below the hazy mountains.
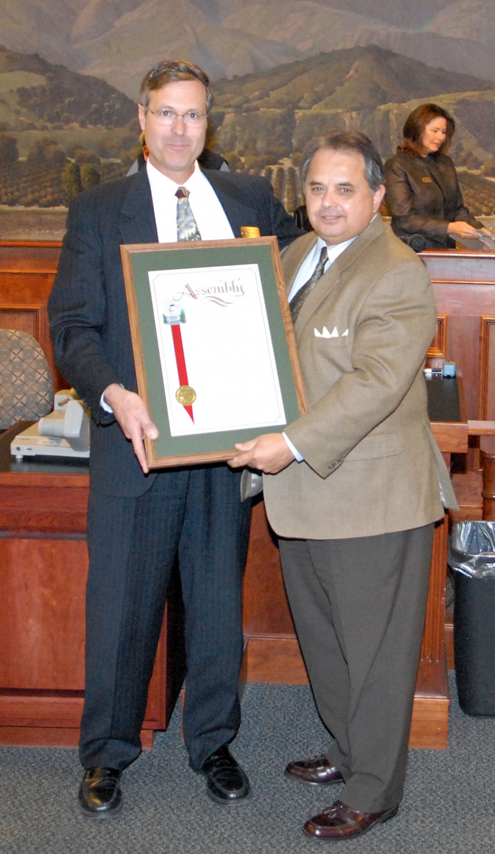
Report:
[[[214,90],[210,145],[231,169],[270,178],[289,211],[301,199],[296,167],[317,132],[362,131],[387,156],[411,109],[434,100],[457,122],[453,155],[469,170],[460,175],[469,207],[495,213],[490,80],[368,45],[218,79]],[[0,229],[7,220],[12,227],[6,210],[18,210],[15,227],[23,235],[26,217],[32,221],[23,211],[55,211],[86,186],[125,175],[137,155],[136,113],[136,104],[102,79],[0,48]]]

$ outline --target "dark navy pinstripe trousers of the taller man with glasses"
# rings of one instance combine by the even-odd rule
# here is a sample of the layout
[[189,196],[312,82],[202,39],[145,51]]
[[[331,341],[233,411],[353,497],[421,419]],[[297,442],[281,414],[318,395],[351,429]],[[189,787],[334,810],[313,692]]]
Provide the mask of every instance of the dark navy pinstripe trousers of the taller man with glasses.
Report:
[[183,589],[183,734],[195,769],[239,728],[242,572],[251,502],[227,465],[161,472],[137,498],[90,493],[86,681],[79,757],[125,769],[141,752],[148,683],[176,555]]

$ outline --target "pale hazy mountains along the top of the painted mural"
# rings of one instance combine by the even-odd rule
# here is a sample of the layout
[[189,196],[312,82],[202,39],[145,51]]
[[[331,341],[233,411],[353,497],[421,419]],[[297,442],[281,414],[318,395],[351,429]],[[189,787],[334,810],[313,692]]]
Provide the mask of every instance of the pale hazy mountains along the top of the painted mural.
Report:
[[495,81],[492,0],[2,0],[2,42],[135,98],[148,67],[183,56],[213,79],[377,44]]

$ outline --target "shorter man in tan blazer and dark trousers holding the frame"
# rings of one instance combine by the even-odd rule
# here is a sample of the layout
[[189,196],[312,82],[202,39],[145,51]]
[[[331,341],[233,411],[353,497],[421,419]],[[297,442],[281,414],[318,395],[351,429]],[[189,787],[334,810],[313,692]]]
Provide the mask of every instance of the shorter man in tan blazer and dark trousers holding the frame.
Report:
[[237,445],[230,465],[265,472],[300,646],[334,736],[286,774],[343,784],[304,828],[342,839],[392,818],[403,796],[440,481],[446,503],[455,498],[422,371],[434,294],[381,220],[381,158],[362,134],[334,132],[317,137],[303,180],[316,233],[282,263],[307,412],[285,434]]

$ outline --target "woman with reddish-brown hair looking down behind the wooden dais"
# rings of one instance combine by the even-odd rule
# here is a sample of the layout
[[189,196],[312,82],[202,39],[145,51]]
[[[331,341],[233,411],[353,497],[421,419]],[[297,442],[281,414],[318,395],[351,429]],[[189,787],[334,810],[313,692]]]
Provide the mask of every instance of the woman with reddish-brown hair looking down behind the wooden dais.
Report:
[[455,129],[445,109],[422,104],[405,121],[404,142],[385,164],[393,231],[406,240],[422,235],[428,249],[455,248],[456,239],[487,231],[464,207],[456,169],[446,155]]

